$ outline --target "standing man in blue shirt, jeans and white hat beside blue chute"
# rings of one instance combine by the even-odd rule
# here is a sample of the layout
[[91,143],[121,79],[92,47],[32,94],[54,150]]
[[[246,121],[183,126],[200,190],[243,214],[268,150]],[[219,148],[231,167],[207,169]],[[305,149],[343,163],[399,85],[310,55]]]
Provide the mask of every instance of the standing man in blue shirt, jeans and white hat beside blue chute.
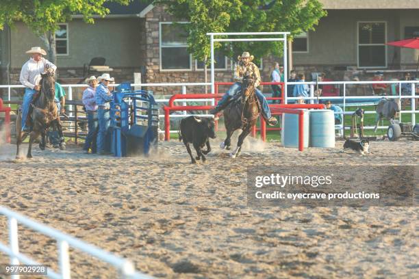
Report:
[[109,150],[105,150],[105,137],[107,130],[110,127],[110,101],[113,96],[108,86],[111,81],[114,81],[113,77],[105,73],[98,77],[101,81],[99,86],[96,88],[96,104],[97,104],[97,119],[99,120],[99,133],[97,134],[97,152],[101,155],[106,154]]

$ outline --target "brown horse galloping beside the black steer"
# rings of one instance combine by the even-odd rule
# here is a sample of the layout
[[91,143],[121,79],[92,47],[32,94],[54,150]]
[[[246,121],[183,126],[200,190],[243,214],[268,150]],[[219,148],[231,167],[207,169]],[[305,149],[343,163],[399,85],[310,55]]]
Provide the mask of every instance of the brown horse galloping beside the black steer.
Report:
[[[236,97],[236,96],[235,96]],[[224,109],[225,129],[227,137],[220,144],[220,148],[230,150],[231,135],[237,129],[242,129],[239,135],[237,147],[230,153],[231,157],[238,157],[244,139],[249,135],[251,128],[256,124],[260,115],[260,105],[255,94],[255,80],[245,76],[242,83],[242,94],[240,97],[233,97],[233,101]]]

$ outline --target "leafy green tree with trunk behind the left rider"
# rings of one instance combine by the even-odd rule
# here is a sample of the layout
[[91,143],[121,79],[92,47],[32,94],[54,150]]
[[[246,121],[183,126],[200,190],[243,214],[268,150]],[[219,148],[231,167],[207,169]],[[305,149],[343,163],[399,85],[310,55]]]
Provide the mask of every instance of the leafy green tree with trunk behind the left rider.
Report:
[[48,49],[49,60],[56,64],[55,31],[59,23],[71,21],[81,14],[86,23],[94,23],[93,15],[105,16],[109,9],[105,2],[127,5],[131,0],[1,0],[0,29],[13,26],[16,21],[25,23],[41,38]]

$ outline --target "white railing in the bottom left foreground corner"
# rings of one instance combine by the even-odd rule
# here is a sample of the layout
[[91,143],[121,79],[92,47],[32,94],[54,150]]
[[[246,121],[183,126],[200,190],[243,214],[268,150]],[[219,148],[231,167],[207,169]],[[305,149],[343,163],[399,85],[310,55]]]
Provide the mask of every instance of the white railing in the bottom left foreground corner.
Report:
[[[105,250],[96,248],[94,245],[88,244],[84,241],[81,241],[71,235],[45,226],[33,220],[30,220],[28,217],[25,217],[19,213],[11,211],[5,207],[0,207],[0,215],[4,215],[8,218],[8,233],[9,233],[9,245],[5,245],[0,242],[0,251],[8,254],[10,257],[10,264],[18,265],[23,263],[25,265],[40,265],[36,261],[32,260],[25,254],[19,252],[18,244],[18,222],[35,230],[42,235],[51,237],[57,241],[58,245],[58,265],[60,271],[55,272],[48,268],[47,276],[49,278],[60,278],[60,279],[70,279],[71,278],[71,267],[70,267],[70,256],[68,253],[69,247],[77,248],[90,256],[97,258],[105,263],[109,263],[118,269],[120,278],[130,278],[130,279],[150,279],[152,277],[142,274],[135,270],[134,265],[131,261],[114,256]],[[19,278],[18,275],[12,275],[12,278]]]

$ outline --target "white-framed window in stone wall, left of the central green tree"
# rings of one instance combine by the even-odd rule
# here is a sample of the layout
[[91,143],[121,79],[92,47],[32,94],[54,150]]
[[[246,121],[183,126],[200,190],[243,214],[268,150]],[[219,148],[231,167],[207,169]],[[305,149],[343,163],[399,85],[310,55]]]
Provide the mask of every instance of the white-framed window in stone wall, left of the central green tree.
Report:
[[179,24],[160,23],[160,70],[192,70],[187,38]]

